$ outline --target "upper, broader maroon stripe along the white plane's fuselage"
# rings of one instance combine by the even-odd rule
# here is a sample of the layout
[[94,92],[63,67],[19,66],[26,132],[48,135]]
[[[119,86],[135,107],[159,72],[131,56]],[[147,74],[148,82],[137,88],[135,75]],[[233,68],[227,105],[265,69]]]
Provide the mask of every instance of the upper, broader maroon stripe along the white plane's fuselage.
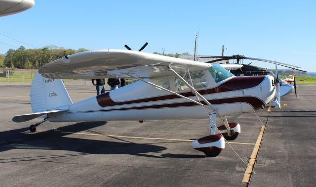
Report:
[[[234,77],[227,82],[219,85],[218,87],[206,89],[206,90],[199,90],[198,93],[204,94],[211,94],[211,93],[222,93],[222,92],[231,92],[237,91],[242,89],[249,89],[259,85],[265,76],[247,76],[247,77]],[[183,96],[189,97],[194,96],[194,94],[190,92],[179,93]],[[102,107],[106,106],[116,106],[122,104],[134,104],[134,103],[141,103],[141,102],[151,102],[151,101],[159,101],[159,100],[167,100],[167,99],[174,99],[180,98],[177,95],[170,94],[170,95],[162,95],[156,97],[148,97],[143,99],[136,99],[136,100],[129,100],[129,101],[122,101],[122,102],[115,102],[111,99],[109,92],[97,95],[98,104]]]

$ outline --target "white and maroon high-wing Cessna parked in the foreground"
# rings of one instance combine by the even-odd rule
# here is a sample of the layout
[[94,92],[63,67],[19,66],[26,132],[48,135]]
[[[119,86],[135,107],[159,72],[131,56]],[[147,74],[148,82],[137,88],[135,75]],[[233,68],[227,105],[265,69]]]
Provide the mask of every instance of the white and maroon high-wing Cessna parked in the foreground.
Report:
[[[61,79],[133,78],[136,83],[73,103]],[[193,141],[193,148],[217,156],[225,140],[241,133],[227,116],[252,112],[267,105],[280,107],[278,74],[236,77],[221,65],[141,51],[100,49],[65,55],[40,67],[31,91],[33,113],[16,115],[14,122],[35,118],[30,132],[45,121],[111,121],[209,119],[210,135]],[[221,119],[216,124],[216,117]]]

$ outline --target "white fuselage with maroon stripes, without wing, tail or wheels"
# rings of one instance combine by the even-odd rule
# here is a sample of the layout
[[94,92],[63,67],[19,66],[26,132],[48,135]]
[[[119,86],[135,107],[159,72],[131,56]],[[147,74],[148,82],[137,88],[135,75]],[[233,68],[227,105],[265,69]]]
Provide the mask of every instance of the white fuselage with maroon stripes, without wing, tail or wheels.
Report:
[[[268,104],[275,95],[272,76],[230,77],[214,82],[209,71],[203,71],[205,81],[197,89],[215,108],[218,116],[229,116],[250,112]],[[186,89],[177,87],[174,76],[150,79],[152,83],[168,81],[168,90],[197,101],[197,97]],[[203,103],[203,101],[202,101]],[[205,104],[205,103],[204,103]],[[206,106],[206,105],[204,105]],[[205,107],[207,112],[212,112]],[[111,121],[111,120],[158,120],[208,118],[203,108],[185,98],[137,82],[117,90],[93,96],[69,105],[69,111],[49,114],[49,121]]]

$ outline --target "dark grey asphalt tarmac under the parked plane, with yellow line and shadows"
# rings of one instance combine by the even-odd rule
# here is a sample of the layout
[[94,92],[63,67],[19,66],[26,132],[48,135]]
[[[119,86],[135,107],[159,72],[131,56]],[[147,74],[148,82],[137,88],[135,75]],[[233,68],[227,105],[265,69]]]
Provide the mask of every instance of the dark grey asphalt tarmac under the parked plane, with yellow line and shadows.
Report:
[[[95,95],[93,86],[66,88],[74,102]],[[246,166],[227,144],[214,158],[192,148],[189,140],[209,135],[207,119],[45,122],[30,133],[40,119],[11,121],[32,112],[29,91],[0,86],[0,186],[247,186]],[[300,85],[297,98],[272,109],[249,186],[315,186],[315,93]],[[266,124],[267,108],[257,114]],[[230,142],[248,163],[262,125],[254,113],[228,119],[241,125]]]

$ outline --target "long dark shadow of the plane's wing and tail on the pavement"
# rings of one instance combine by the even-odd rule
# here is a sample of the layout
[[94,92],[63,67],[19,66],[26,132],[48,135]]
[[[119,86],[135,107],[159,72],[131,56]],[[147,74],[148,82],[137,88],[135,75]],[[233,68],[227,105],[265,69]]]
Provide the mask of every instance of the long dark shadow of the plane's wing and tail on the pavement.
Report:
[[[80,122],[59,128],[60,131],[81,132],[107,122]],[[22,133],[29,128],[21,128],[0,132],[0,152],[10,149],[48,149],[67,150],[86,154],[130,154],[145,157],[163,158],[143,153],[159,152],[166,148],[146,143],[134,143],[130,141],[117,142],[105,140],[89,140],[78,136],[68,137],[69,133],[45,131],[39,133]]]

